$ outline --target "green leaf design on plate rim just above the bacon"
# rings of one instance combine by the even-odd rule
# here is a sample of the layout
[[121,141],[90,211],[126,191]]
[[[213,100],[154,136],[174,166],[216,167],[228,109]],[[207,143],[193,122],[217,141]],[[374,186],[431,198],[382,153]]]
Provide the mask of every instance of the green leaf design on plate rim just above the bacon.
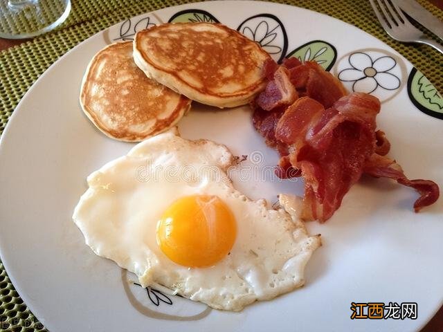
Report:
[[314,40],[299,46],[286,57],[296,57],[301,62],[315,61],[329,71],[337,59],[337,51],[334,46],[323,40]]

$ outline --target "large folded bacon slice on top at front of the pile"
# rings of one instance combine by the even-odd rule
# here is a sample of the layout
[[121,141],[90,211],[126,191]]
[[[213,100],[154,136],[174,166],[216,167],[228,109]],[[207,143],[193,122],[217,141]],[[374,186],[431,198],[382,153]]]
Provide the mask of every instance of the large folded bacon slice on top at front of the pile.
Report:
[[291,145],[290,163],[305,178],[304,219],[329,219],[359,181],[365,160],[374,153],[379,109],[377,98],[352,93],[326,110],[304,97],[284,112],[275,138]]

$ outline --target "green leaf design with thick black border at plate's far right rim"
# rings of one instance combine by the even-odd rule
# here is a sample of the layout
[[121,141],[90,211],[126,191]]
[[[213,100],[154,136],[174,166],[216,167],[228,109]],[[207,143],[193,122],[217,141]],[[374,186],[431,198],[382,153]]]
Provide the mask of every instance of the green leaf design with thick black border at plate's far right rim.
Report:
[[422,72],[417,71],[417,68],[413,68],[409,74],[408,95],[420,111],[429,116],[443,119],[442,95]]

